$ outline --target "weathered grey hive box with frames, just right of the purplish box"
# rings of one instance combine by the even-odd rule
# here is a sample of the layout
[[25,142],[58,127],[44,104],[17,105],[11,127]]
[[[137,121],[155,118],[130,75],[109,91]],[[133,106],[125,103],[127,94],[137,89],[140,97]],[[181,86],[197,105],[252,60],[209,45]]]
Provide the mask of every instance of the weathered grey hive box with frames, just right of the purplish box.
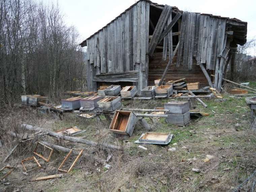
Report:
[[121,97],[107,97],[97,102],[100,111],[115,111],[122,106]]

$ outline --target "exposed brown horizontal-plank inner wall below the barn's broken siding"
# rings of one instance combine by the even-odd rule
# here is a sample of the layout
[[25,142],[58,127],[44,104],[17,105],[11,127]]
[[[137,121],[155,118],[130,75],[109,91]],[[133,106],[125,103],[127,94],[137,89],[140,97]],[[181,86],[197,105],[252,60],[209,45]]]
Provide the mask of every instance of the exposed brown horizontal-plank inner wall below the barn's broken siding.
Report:
[[[160,79],[163,75],[165,67],[169,62],[169,59],[166,61],[162,60],[162,53],[155,54],[153,60],[149,61],[149,85],[154,85],[155,79]],[[167,53],[168,55],[168,53]],[[167,57],[168,58],[168,57]],[[191,70],[184,69],[183,60],[181,61],[181,65],[176,67],[177,57],[173,58],[173,62],[170,65],[165,78],[168,80],[178,80],[181,78],[186,78],[187,83],[200,82],[200,86],[208,86],[207,79],[200,69],[199,65],[196,65],[196,60],[193,60],[193,67]],[[209,74],[210,74],[209,70]]]

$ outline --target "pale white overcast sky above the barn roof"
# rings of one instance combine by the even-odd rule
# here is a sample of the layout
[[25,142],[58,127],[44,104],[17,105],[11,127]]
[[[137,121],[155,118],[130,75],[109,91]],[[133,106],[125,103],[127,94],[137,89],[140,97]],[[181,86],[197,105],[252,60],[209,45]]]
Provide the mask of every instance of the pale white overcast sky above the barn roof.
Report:
[[[81,42],[101,29],[135,0],[42,0],[58,2],[65,22],[76,27]],[[152,0],[184,11],[210,13],[248,22],[247,39],[256,38],[256,0]],[[172,3],[173,2],[173,3]]]

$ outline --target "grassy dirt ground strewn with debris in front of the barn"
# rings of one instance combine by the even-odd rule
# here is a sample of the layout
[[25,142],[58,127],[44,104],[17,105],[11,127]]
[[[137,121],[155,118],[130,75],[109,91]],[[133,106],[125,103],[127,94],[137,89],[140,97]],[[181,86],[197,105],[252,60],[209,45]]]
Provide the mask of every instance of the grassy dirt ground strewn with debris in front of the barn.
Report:
[[[196,102],[201,112],[210,116],[192,119],[186,127],[165,123],[164,119],[152,123],[153,132],[170,132],[173,138],[169,145],[141,145],[148,150],[138,148],[134,143],[141,133],[146,132],[139,122],[136,123],[131,137],[119,136],[108,131],[110,121],[100,116],[85,120],[74,114],[64,114],[62,120],[54,114],[42,114],[33,108],[13,108],[10,113],[1,115],[0,166],[14,166],[13,172],[0,183],[0,191],[232,191],[249,177],[256,169],[256,134],[250,128],[250,109],[245,97],[224,99],[203,99],[208,105],[204,108]],[[122,104],[130,108],[161,107],[166,100],[127,101]],[[8,152],[17,142],[9,136],[10,131],[24,130],[19,128],[21,121],[48,130],[77,126],[86,132],[76,135],[99,143],[110,143],[121,146],[121,151],[103,148],[101,145],[88,145],[53,139],[42,136],[18,146],[17,150],[2,163]],[[28,132],[28,131],[25,131]],[[54,150],[50,162],[36,158],[40,169],[24,174],[21,160],[33,156],[37,140],[43,140],[67,148],[85,149],[84,154],[74,169],[62,178],[31,182],[33,178],[58,174],[58,167],[66,153]],[[12,141],[12,142],[11,142]],[[175,151],[169,151],[175,148]],[[49,152],[45,152],[46,154]],[[107,169],[97,161],[112,158]],[[209,159],[206,155],[213,157]],[[74,159],[72,155],[71,159]],[[64,168],[68,168],[71,160]],[[192,169],[199,169],[195,172]],[[0,174],[1,176],[1,174]],[[255,178],[254,178],[255,179]],[[241,191],[248,191],[253,180]]]

